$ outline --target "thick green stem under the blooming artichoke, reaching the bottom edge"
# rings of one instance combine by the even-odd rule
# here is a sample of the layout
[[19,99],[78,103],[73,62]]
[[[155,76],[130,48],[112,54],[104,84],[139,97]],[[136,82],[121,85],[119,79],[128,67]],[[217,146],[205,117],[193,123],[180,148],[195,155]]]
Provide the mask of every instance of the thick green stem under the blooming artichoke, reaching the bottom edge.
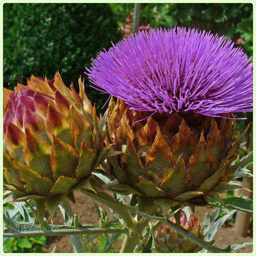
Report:
[[148,224],[148,218],[141,218],[140,221],[137,222],[136,226],[134,227],[133,231],[128,235],[125,235],[124,242],[122,244],[122,248],[120,253],[133,253],[134,249],[142,236],[143,230]]

